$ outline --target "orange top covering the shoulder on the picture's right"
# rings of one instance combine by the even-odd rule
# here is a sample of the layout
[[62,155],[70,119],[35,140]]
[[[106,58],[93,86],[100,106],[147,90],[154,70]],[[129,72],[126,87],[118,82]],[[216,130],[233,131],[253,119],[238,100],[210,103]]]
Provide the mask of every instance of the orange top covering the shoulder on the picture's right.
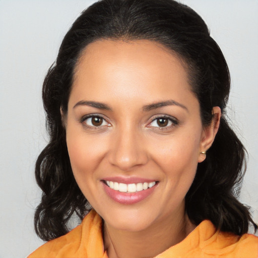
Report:
[[258,237],[218,231],[211,221],[200,223],[184,240],[157,256],[257,258]]

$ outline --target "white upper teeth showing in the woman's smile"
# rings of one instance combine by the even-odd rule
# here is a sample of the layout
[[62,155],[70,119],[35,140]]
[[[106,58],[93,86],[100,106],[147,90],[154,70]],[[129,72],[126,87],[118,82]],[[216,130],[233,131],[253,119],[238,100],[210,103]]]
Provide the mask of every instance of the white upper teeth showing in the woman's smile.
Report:
[[138,192],[138,191],[143,191],[147,190],[148,188],[152,188],[154,185],[158,183],[158,181],[153,181],[153,182],[144,182],[144,183],[118,183],[118,182],[113,182],[113,181],[105,181],[103,180],[104,183],[109,186],[109,188],[113,190],[117,190],[119,192]]

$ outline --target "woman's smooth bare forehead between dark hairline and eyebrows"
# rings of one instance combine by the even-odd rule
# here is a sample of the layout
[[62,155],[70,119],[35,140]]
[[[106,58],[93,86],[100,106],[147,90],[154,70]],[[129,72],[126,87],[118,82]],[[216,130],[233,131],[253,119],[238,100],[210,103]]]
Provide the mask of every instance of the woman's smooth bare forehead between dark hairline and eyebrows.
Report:
[[150,102],[163,100],[167,94],[183,99],[190,86],[182,61],[163,45],[148,40],[98,40],[78,60],[73,92],[98,101],[113,94]]

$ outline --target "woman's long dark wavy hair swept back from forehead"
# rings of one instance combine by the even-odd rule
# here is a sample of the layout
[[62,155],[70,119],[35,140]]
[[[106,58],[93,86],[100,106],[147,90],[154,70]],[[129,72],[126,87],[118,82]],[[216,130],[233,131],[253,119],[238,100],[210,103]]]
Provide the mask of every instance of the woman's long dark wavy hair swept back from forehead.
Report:
[[42,189],[34,219],[38,236],[50,240],[66,234],[71,216],[77,214],[82,219],[90,209],[73,176],[60,108],[66,114],[82,51],[100,39],[147,39],[159,42],[181,58],[191,90],[200,103],[203,125],[211,123],[214,106],[222,110],[218,134],[186,194],[185,211],[196,225],[209,219],[217,229],[237,235],[246,233],[249,223],[256,229],[248,208],[237,200],[246,151],[226,120],[229,70],[203,19],[173,0],[102,0],[74,22],[43,83],[49,143],[35,168]]

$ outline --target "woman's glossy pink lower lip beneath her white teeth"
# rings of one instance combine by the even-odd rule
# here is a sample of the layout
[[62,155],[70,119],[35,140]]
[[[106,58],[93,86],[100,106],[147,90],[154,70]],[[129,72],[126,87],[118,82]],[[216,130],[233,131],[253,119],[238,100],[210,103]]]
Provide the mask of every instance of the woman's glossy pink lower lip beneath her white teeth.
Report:
[[151,188],[148,188],[142,191],[137,191],[137,192],[120,192],[120,191],[111,189],[103,182],[104,190],[112,200],[114,200],[117,203],[127,204],[127,205],[136,204],[143,201],[144,199],[146,199],[148,196],[151,195],[151,193],[154,191],[157,185],[158,184],[156,183]]

